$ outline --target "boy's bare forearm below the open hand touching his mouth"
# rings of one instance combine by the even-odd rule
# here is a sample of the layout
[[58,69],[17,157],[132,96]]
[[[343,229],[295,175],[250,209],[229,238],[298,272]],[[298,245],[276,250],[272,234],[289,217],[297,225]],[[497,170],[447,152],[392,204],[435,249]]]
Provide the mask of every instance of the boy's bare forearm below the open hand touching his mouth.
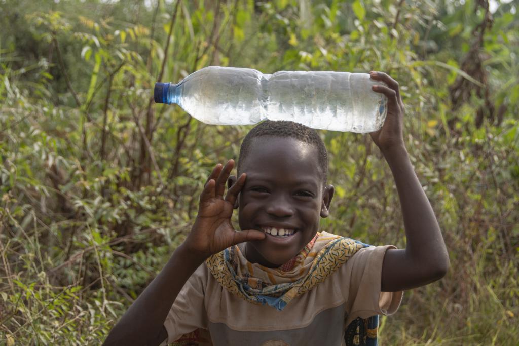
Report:
[[183,245],[177,247],[166,266],[111,330],[104,345],[162,342],[157,338],[176,296],[204,259]]

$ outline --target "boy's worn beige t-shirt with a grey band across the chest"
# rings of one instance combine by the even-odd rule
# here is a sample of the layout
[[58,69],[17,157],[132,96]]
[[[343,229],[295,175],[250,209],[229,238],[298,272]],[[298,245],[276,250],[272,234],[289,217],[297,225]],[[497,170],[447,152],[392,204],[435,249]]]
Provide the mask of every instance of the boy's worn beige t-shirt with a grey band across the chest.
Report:
[[231,294],[202,264],[185,283],[164,321],[167,342],[202,328],[209,330],[214,346],[344,345],[344,329],[351,321],[392,314],[400,306],[402,292],[380,292],[388,248],[395,247],[362,248],[282,311]]

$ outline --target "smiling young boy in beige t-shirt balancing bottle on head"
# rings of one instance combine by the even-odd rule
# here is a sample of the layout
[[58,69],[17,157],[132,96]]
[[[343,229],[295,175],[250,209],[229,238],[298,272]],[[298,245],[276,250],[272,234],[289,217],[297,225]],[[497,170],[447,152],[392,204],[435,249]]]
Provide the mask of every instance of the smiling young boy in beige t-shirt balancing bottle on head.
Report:
[[376,315],[445,275],[447,250],[404,146],[398,83],[371,77],[387,85],[373,87],[388,115],[371,137],[393,173],[407,247],[318,232],[334,194],[326,149],[314,130],[266,121],[245,137],[237,177],[233,160],[216,165],[192,231],[105,344],[376,344]]

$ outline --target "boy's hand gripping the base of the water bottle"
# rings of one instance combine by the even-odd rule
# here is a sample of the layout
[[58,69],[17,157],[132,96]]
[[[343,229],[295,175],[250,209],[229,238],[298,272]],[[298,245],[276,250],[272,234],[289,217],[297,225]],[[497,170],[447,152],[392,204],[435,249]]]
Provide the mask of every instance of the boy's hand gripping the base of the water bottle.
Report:
[[386,83],[386,86],[375,85],[373,91],[384,94],[388,98],[388,113],[384,126],[375,132],[371,132],[373,142],[385,151],[395,145],[402,145],[403,140],[403,119],[404,119],[404,103],[400,96],[399,85],[396,80],[388,76],[384,72],[370,72],[370,77]]

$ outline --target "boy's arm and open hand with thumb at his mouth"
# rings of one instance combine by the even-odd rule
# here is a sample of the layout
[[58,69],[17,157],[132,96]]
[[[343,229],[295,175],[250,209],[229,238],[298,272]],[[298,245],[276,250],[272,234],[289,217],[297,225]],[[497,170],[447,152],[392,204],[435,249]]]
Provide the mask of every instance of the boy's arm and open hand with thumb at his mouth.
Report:
[[234,203],[245,183],[242,174],[224,198],[234,161],[218,163],[200,196],[191,232],[144,292],[110,331],[104,345],[158,345],[167,338],[163,326],[173,302],[189,276],[212,254],[249,240],[264,239],[257,230],[236,231],[230,222]]

